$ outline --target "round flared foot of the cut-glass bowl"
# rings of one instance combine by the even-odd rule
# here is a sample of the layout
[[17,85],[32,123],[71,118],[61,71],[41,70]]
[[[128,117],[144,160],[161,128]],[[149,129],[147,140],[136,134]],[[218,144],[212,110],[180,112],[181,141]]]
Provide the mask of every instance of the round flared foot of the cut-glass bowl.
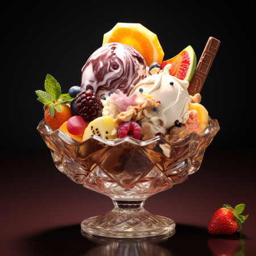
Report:
[[156,237],[175,233],[175,222],[170,218],[149,213],[143,207],[121,209],[90,217],[81,222],[81,233],[111,238]]

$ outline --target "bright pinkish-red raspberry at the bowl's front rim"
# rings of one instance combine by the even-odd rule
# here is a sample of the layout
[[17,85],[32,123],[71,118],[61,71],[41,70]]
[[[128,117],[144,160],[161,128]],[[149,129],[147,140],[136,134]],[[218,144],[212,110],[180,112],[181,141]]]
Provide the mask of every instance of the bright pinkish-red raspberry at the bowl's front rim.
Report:
[[124,122],[117,127],[117,137],[133,137],[134,139],[141,139],[141,126],[134,121]]

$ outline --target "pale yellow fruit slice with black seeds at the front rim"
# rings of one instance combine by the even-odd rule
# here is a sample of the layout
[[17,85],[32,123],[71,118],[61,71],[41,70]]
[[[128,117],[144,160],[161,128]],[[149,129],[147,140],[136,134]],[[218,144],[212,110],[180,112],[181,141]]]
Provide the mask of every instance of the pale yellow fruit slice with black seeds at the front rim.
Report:
[[84,130],[84,136],[82,141],[86,141],[92,135],[104,139],[115,139],[117,138],[117,125],[114,122],[112,117],[98,117],[92,122],[89,122],[89,125]]

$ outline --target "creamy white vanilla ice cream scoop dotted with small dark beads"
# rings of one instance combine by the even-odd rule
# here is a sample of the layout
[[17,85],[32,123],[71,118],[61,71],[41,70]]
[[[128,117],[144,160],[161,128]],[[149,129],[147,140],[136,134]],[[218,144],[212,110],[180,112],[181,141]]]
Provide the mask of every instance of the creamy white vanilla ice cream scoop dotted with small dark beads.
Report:
[[150,124],[153,133],[166,133],[177,120],[185,123],[191,101],[188,85],[188,81],[177,79],[168,71],[148,76],[135,85],[130,95],[136,93],[137,101],[142,101],[145,97],[154,97],[156,101],[156,108],[150,110],[141,123]]

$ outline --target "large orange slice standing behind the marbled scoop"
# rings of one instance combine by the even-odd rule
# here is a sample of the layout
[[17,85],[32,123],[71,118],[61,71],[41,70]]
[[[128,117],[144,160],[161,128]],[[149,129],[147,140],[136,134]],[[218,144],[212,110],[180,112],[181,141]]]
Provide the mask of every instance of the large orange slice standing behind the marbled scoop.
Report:
[[161,64],[163,61],[164,52],[158,37],[139,23],[117,23],[104,34],[102,45],[107,43],[122,43],[134,47],[141,53],[148,67],[152,62]]

